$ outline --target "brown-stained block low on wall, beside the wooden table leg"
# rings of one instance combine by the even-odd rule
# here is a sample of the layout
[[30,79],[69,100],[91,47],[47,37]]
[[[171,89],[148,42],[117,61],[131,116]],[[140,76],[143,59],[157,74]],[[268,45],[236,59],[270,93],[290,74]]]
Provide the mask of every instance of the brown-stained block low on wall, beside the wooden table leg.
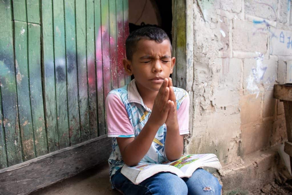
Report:
[[285,118],[280,118],[273,122],[272,134],[270,138],[271,145],[284,143],[287,140]]

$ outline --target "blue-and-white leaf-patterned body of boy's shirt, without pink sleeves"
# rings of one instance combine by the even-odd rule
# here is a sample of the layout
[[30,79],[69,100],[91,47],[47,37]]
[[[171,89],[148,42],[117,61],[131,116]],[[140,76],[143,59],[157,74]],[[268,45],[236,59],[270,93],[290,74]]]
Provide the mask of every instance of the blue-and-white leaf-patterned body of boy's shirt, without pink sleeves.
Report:
[[[180,107],[183,100],[188,96],[188,93],[181,88],[173,87],[173,91],[176,97],[177,110]],[[122,88],[114,89],[109,94],[115,94],[119,97],[121,102],[124,104],[125,109],[128,114],[128,118],[133,127],[133,134],[131,135],[108,135],[112,137],[112,153],[108,159],[110,166],[110,176],[119,170],[123,165],[121,152],[117,143],[116,137],[137,137],[140,131],[143,129],[145,123],[149,119],[151,110],[143,103],[143,100],[138,93],[135,80],[132,80],[128,85]],[[117,113],[118,115],[119,113]],[[121,127],[122,128],[122,127]],[[181,132],[180,134],[187,134],[186,132]],[[166,138],[166,125],[162,125],[155,138],[153,139],[152,145],[146,155],[142,158],[141,162],[148,163],[161,163],[166,161],[166,155],[164,151],[164,141]]]

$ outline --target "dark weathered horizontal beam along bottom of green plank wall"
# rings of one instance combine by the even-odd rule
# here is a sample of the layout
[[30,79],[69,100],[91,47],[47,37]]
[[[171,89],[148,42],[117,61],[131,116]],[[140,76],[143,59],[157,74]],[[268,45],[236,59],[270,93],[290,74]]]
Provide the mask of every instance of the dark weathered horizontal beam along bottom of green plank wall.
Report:
[[111,152],[106,135],[0,170],[0,194],[29,194],[72,177],[99,163]]

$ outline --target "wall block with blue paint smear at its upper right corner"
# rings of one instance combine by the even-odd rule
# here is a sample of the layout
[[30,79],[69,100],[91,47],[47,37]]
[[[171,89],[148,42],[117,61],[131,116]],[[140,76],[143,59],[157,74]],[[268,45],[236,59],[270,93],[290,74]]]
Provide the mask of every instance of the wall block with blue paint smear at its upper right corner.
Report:
[[267,51],[268,31],[265,23],[233,20],[232,49],[235,51],[260,52]]

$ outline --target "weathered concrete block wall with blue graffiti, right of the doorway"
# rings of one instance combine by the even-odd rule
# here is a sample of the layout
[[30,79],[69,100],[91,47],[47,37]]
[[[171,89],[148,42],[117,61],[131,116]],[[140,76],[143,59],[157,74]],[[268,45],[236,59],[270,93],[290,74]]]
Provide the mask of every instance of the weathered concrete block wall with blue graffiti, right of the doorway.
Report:
[[186,153],[223,165],[284,143],[284,106],[273,86],[292,82],[287,0],[195,0],[192,132]]

